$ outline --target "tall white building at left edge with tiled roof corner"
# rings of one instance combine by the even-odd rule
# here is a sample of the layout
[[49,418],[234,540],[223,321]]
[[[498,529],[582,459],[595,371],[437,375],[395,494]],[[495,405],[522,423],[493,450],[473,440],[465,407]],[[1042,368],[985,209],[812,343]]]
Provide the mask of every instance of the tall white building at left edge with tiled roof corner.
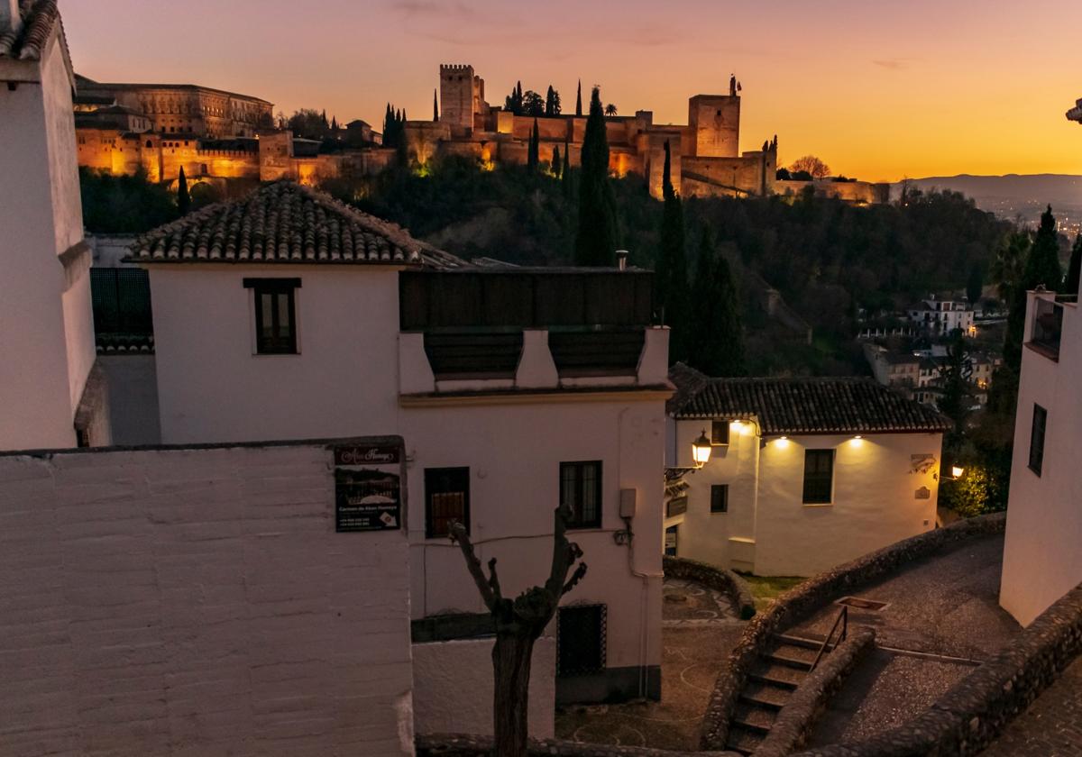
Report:
[[0,450],[108,442],[56,4],[0,0]]

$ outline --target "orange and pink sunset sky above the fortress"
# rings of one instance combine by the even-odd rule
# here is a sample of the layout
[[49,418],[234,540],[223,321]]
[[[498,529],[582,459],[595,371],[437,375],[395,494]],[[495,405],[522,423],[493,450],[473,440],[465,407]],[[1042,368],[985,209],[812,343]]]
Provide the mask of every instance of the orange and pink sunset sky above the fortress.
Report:
[[199,83],[287,114],[378,129],[390,99],[432,117],[440,63],[501,104],[597,83],[622,114],[686,123],[687,98],[743,83],[741,148],[779,136],[869,181],[1082,173],[1077,0],[61,0],[76,69]]

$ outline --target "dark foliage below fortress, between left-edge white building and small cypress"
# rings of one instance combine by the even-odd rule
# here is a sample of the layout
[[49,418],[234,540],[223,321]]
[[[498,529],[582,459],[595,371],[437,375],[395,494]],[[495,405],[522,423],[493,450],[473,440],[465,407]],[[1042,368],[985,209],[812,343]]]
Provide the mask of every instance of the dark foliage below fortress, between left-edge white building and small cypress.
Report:
[[79,187],[83,225],[95,234],[142,234],[179,215],[172,192],[147,181],[143,170],[114,176],[80,168]]

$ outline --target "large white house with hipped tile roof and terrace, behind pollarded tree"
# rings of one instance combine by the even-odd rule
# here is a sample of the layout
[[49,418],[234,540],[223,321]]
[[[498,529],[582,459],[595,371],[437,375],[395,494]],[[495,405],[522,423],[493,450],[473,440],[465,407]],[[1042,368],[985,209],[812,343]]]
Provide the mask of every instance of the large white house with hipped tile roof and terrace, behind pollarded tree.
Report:
[[[546,575],[566,502],[590,572],[554,629],[557,696],[659,695],[671,386],[648,273],[471,266],[286,182],[164,226],[132,257],[150,276],[163,441],[403,436],[425,639],[484,610],[452,519],[513,596]],[[484,660],[448,646],[441,665]],[[440,723],[465,708],[441,705]]]

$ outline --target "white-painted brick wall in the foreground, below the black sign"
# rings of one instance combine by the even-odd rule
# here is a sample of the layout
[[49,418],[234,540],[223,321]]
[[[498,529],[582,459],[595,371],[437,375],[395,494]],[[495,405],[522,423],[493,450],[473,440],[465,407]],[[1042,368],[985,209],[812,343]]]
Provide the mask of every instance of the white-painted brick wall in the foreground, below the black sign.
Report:
[[0,456],[0,752],[412,755],[404,531],[330,452]]

